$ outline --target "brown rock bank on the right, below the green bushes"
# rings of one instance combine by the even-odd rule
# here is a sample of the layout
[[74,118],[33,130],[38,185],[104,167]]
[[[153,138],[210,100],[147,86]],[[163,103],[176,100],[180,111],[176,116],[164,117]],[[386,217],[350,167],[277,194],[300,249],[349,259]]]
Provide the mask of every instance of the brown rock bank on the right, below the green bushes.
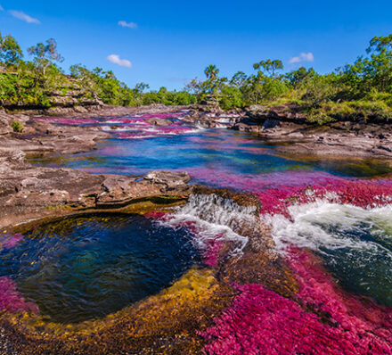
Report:
[[391,123],[366,120],[340,120],[323,126],[306,121],[306,114],[296,105],[251,106],[246,111],[225,113],[192,111],[190,120],[203,127],[216,127],[222,121],[230,128],[249,132],[269,144],[279,145],[277,151],[290,155],[323,157],[392,157]]

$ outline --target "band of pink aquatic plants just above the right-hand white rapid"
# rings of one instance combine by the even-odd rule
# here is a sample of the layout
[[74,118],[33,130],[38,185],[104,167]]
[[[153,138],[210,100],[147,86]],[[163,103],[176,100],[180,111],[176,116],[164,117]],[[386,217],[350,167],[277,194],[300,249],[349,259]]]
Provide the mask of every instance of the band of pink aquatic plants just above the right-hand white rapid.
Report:
[[238,174],[227,169],[190,168],[191,177],[208,185],[231,187],[256,194],[262,213],[282,213],[296,203],[326,199],[358,207],[383,206],[392,202],[392,179],[335,177],[321,171],[299,170],[260,175]]

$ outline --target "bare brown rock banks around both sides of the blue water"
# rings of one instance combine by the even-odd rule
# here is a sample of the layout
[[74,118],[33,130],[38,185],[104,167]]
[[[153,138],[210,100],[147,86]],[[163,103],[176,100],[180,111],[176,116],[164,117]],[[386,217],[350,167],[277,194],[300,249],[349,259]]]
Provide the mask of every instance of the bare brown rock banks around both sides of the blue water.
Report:
[[[159,113],[184,111],[183,120],[194,127],[224,127],[251,132],[265,139],[266,144],[277,144],[276,152],[283,156],[372,157],[383,159],[386,164],[392,158],[392,132],[388,125],[337,122],[329,128],[316,127],[307,124],[306,117],[296,107],[266,109],[253,106],[249,111],[232,112],[211,112],[202,106],[162,105],[139,108],[104,106],[83,112],[64,110],[57,112],[61,116],[53,116],[54,122],[56,117],[58,120],[79,120],[77,127],[40,120],[45,117],[45,112],[41,111],[0,111],[0,201],[4,206],[0,227],[20,222],[20,219],[50,215],[53,210],[110,208],[126,205],[133,199],[187,191],[189,177],[186,174],[155,172],[145,177],[97,176],[74,169],[38,168],[29,164],[27,156],[93,150],[97,142],[110,134],[80,125],[91,118],[140,114],[153,117]],[[146,120],[161,127],[170,124],[165,119]],[[12,122],[19,122],[22,131],[13,132]]]

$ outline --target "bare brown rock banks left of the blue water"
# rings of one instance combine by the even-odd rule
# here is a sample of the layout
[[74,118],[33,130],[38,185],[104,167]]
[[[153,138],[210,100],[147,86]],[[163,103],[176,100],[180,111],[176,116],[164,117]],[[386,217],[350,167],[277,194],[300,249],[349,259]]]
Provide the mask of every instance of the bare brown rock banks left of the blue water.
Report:
[[[161,112],[162,108],[108,108],[94,112],[94,116],[157,111]],[[0,136],[0,201],[3,206],[0,227],[51,215],[53,211],[118,208],[127,202],[155,195],[189,192],[187,183],[190,178],[185,173],[151,172],[144,177],[96,176],[74,169],[34,167],[27,161],[27,156],[86,152],[110,135],[80,126],[54,126],[45,121],[30,120],[26,114],[1,113],[0,119],[4,123],[4,135]],[[22,132],[10,131],[14,121],[23,125]]]

